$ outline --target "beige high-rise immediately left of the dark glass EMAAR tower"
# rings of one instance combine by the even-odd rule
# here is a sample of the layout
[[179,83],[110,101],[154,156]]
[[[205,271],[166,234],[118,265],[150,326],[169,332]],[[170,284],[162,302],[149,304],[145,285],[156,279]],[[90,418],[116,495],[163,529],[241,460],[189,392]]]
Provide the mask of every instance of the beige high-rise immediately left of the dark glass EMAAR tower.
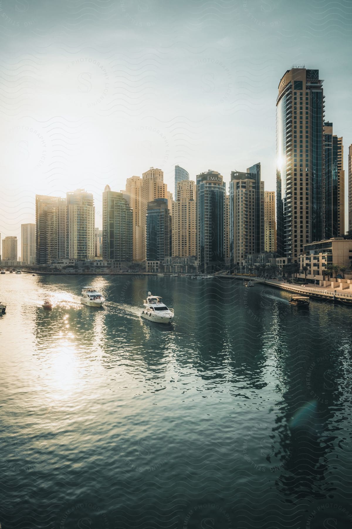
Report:
[[196,255],[196,186],[193,180],[177,183],[177,200],[172,203],[172,254]]

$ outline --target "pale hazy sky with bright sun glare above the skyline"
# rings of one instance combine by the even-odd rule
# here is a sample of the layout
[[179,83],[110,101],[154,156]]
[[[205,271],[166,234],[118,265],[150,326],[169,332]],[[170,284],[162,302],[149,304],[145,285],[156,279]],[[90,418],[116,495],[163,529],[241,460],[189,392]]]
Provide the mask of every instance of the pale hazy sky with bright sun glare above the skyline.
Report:
[[[2,0],[0,233],[35,194],[101,194],[149,167],[195,179],[261,162],[275,190],[275,102],[293,65],[319,69],[325,116],[352,143],[352,3]],[[20,245],[18,254],[21,254]]]

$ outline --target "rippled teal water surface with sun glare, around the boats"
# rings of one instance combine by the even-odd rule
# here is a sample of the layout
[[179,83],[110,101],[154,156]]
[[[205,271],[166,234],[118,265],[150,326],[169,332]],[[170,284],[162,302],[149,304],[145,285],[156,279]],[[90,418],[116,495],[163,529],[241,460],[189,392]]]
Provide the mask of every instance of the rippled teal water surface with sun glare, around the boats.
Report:
[[[172,326],[139,318],[148,290]],[[352,526],[351,307],[227,278],[0,293],[3,529]]]

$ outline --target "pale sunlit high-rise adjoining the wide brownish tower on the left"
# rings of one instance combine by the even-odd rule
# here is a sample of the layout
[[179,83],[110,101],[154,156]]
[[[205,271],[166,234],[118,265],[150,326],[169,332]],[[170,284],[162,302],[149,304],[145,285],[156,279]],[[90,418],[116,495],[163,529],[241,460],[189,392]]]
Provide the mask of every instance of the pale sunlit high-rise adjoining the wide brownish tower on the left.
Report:
[[94,259],[95,208],[93,195],[84,189],[66,193],[67,257]]

